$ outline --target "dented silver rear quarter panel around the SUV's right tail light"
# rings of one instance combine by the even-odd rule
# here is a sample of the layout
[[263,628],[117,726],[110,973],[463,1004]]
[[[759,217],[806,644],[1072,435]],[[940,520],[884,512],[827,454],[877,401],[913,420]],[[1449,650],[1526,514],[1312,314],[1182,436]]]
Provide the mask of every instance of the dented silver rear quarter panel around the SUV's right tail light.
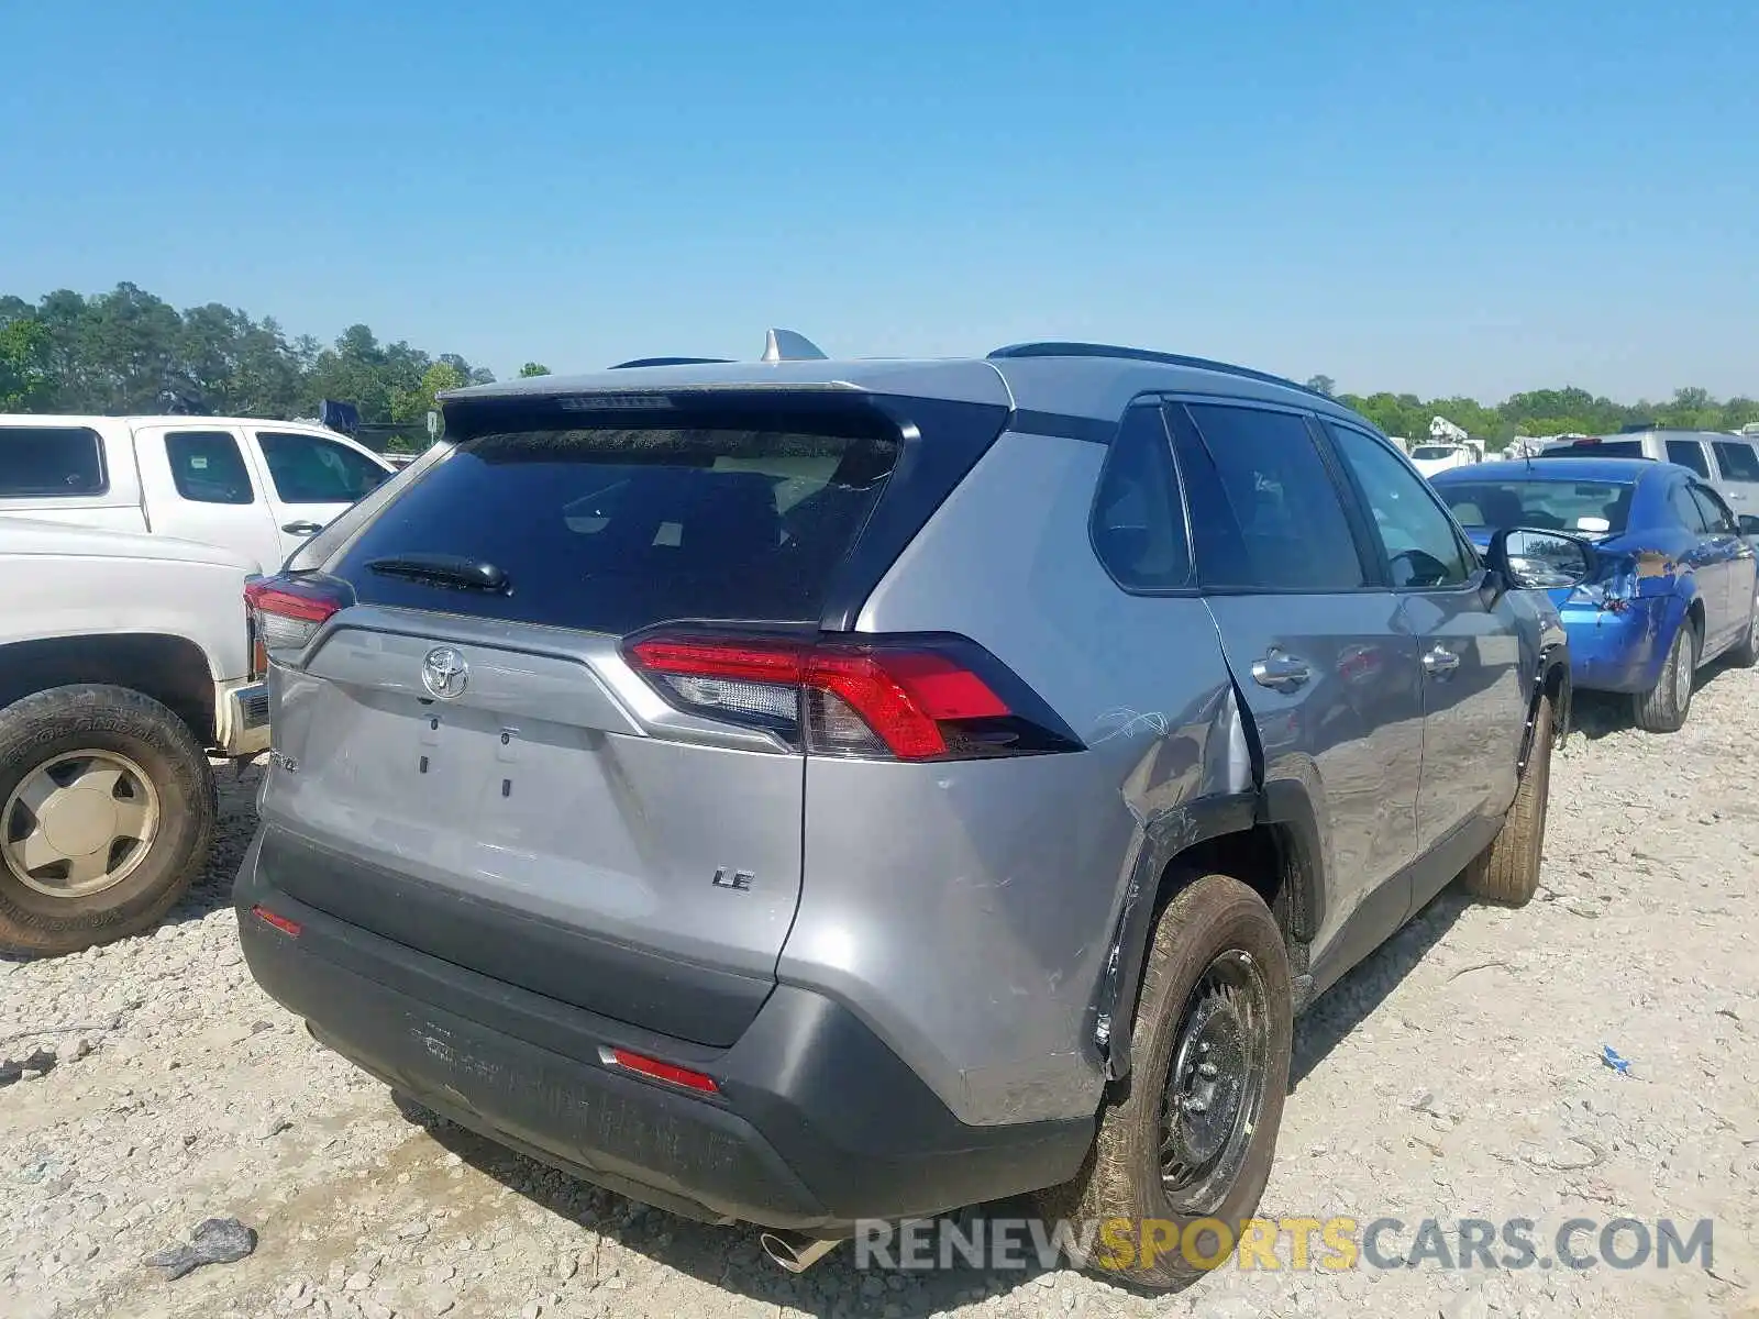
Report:
[[1085,749],[807,760],[806,881],[777,976],[850,1006],[964,1122],[1092,1113],[1094,999],[1136,855],[1191,802],[1251,786],[1203,601],[1128,594],[1092,554],[1105,452],[1003,434],[858,619],[966,633]]

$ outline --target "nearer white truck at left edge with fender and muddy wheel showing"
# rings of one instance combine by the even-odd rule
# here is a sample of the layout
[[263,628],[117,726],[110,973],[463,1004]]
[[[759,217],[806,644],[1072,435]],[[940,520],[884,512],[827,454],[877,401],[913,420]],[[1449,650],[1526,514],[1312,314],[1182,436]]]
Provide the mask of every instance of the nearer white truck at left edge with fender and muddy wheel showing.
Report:
[[0,950],[65,953],[139,932],[201,872],[215,832],[208,751],[269,744],[245,608],[257,565],[171,536],[0,517]]

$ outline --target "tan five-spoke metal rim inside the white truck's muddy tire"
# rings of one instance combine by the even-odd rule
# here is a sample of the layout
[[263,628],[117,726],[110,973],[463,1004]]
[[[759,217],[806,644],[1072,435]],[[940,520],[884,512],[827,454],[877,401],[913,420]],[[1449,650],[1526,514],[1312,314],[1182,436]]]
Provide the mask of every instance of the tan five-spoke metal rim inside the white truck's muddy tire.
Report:
[[114,751],[49,758],[0,811],[0,856],[47,897],[102,893],[127,879],[158,835],[158,791],[146,770]]

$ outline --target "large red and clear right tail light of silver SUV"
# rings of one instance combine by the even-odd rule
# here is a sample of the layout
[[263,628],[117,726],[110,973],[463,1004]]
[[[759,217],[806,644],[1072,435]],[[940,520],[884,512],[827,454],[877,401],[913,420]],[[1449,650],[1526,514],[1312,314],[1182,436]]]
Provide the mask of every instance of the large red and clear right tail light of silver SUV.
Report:
[[635,640],[626,656],[677,709],[767,728],[813,754],[971,760],[1080,749],[1043,700],[962,637],[667,633]]

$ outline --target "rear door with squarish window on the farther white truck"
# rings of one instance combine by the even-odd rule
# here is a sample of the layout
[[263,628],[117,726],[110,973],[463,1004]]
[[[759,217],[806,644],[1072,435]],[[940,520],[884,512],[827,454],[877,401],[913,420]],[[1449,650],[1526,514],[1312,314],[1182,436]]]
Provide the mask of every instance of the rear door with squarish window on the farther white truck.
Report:
[[264,572],[281,565],[287,556],[269,521],[264,482],[245,457],[236,426],[201,419],[137,426],[134,445],[157,535],[225,545]]

